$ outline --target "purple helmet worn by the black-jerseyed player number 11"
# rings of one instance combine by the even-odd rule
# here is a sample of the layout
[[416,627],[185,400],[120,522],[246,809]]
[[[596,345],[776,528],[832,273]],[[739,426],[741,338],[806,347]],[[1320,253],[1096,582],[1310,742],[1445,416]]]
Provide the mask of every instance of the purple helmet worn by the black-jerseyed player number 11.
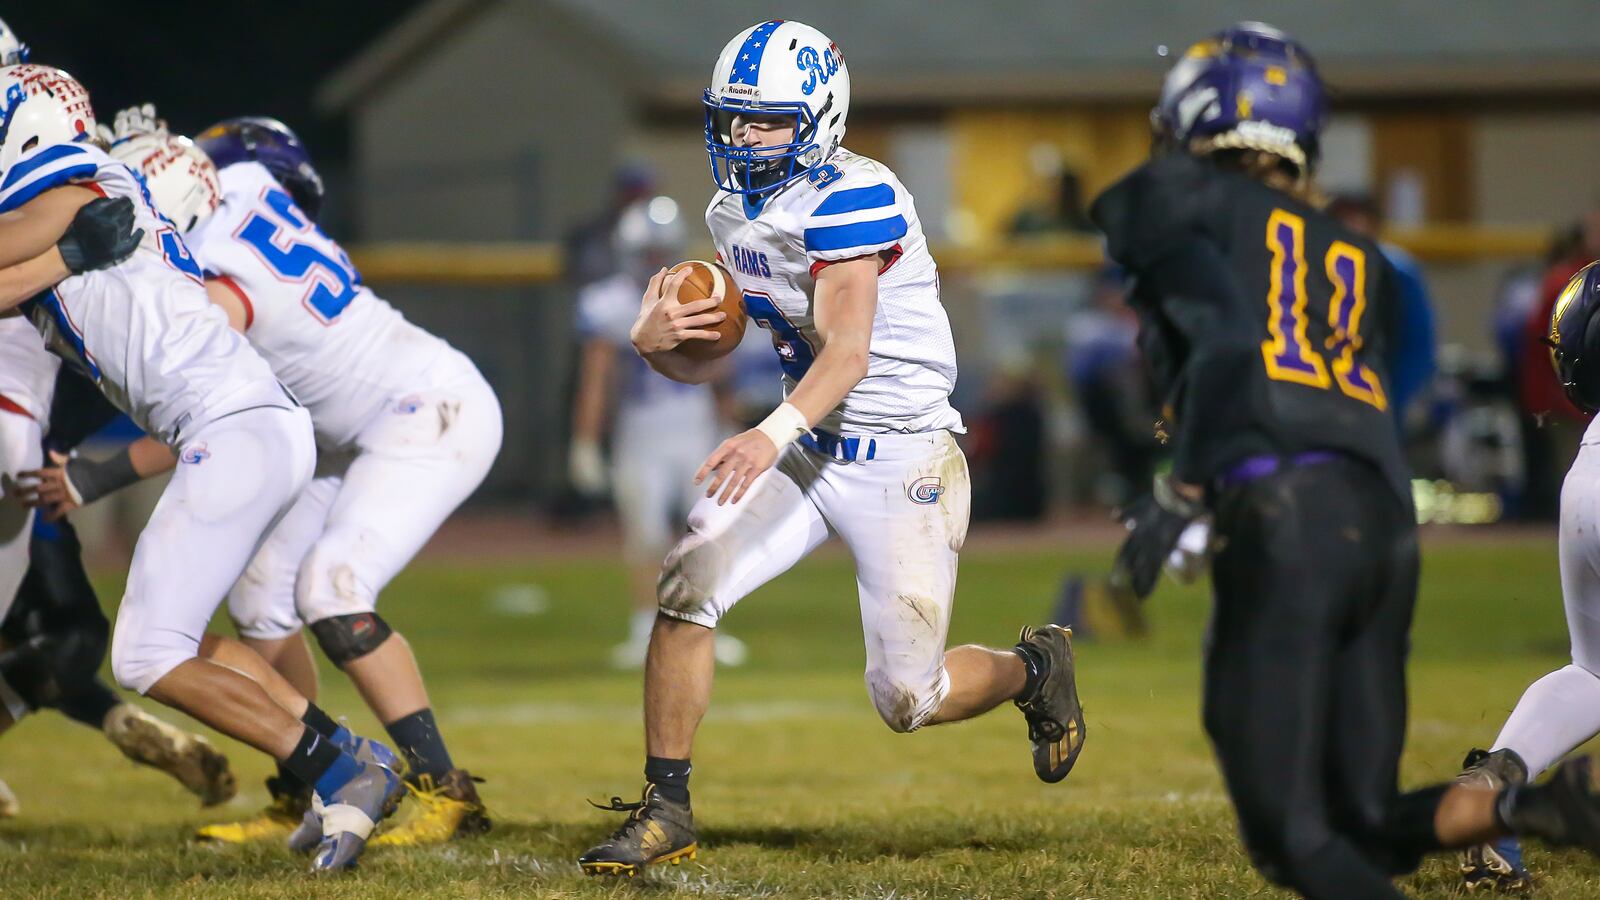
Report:
[[1170,147],[1206,139],[1210,149],[1277,154],[1309,173],[1325,109],[1310,53],[1272,26],[1238,22],[1190,46],[1166,72],[1150,125]]

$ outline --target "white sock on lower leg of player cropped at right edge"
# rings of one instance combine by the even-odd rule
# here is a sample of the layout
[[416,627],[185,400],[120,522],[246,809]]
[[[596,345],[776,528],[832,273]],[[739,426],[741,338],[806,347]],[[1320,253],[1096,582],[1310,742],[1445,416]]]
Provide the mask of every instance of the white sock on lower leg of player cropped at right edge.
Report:
[[1597,733],[1600,677],[1582,666],[1566,666],[1528,685],[1491,749],[1517,751],[1533,780]]

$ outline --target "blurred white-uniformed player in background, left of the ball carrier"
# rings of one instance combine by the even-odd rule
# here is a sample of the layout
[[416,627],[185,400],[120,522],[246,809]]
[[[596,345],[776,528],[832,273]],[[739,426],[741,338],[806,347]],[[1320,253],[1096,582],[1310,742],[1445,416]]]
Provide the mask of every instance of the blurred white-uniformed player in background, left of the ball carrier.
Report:
[[[587,495],[608,488],[622,524],[622,556],[634,589],[627,641],[611,650],[611,665],[645,665],[656,623],[656,578],[677,522],[694,504],[694,469],[717,445],[717,399],[704,384],[662,378],[634,352],[629,331],[638,317],[638,291],[662,264],[683,255],[683,223],[670,197],[638,200],[618,216],[611,237],[619,271],[578,291],[578,392],[568,476]],[[611,421],[610,477],[600,452]],[[677,517],[677,522],[674,520]],[[717,636],[717,661],[744,661],[744,644]]]

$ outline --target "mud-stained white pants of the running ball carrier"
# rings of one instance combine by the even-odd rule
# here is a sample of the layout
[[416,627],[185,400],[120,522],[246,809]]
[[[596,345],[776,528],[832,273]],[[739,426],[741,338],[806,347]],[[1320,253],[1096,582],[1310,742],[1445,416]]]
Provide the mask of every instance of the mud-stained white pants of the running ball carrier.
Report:
[[861,436],[872,460],[789,445],[744,500],[701,498],[667,554],[658,599],[672,618],[715,628],[746,594],[829,533],[856,560],[867,690],[885,724],[909,732],[950,689],[944,639],[971,506],[966,458],[947,431]]

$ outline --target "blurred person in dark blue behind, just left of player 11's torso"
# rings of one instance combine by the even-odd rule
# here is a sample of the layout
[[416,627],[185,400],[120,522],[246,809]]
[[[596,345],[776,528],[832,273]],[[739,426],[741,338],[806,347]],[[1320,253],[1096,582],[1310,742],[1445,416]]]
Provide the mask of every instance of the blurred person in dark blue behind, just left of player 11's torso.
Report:
[[1120,267],[1094,279],[1090,304],[1067,320],[1067,378],[1114,482],[1101,500],[1123,504],[1149,490],[1162,453],[1155,397],[1138,351],[1139,320],[1123,303]]

